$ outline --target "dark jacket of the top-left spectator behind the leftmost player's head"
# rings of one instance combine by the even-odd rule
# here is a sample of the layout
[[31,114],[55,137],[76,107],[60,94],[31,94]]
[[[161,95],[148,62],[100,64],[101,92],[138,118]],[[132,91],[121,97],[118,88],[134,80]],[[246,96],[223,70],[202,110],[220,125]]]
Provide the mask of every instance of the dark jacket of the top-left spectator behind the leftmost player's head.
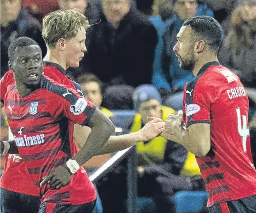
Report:
[[13,40],[27,36],[34,39],[40,45],[43,56],[46,54],[46,45],[41,32],[42,26],[40,22],[29,15],[25,7],[21,8],[17,20],[12,21],[7,27],[1,25],[1,77],[9,69],[8,47]]

